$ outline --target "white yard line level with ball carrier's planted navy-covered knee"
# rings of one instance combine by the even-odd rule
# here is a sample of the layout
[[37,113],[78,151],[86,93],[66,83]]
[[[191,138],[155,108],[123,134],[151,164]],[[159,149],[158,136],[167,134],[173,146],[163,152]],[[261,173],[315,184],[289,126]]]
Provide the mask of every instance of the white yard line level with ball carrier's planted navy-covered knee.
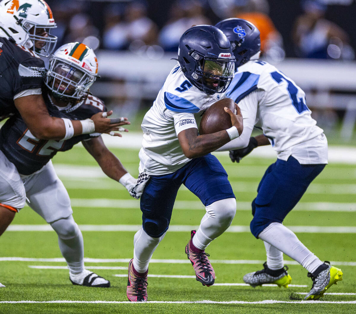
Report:
[[[198,229],[197,225],[170,225],[168,231],[170,232],[189,232]],[[338,226],[338,227],[324,227],[324,226],[287,226],[290,230],[296,233],[356,233],[356,227]],[[79,225],[82,231],[137,231],[141,225]],[[53,231],[51,225],[16,225],[11,224],[6,231]],[[225,232],[242,233],[250,232],[248,226],[230,226]]]

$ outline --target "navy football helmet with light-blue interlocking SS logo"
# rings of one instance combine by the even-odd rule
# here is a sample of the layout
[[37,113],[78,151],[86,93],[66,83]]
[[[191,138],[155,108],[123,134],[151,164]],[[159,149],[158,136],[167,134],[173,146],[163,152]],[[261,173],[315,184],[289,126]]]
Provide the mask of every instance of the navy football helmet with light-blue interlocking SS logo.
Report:
[[[251,22],[242,18],[226,18],[215,26],[222,30],[230,41],[232,53],[236,58],[235,68],[260,52],[260,31]],[[259,55],[256,59],[258,57]]]

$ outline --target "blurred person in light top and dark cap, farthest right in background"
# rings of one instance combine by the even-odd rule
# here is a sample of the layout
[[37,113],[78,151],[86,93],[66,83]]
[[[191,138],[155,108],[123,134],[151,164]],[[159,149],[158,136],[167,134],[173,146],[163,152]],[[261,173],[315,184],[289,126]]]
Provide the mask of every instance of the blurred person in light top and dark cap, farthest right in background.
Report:
[[296,53],[302,58],[354,59],[349,37],[341,27],[324,18],[326,5],[318,0],[302,2],[304,14],[293,28]]

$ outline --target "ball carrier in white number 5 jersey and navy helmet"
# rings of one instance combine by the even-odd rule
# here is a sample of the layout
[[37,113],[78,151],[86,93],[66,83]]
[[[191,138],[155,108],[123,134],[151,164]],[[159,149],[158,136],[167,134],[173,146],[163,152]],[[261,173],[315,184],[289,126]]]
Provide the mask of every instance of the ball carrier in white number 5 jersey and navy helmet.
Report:
[[[184,184],[205,205],[206,214],[185,247],[196,279],[205,286],[215,280],[205,248],[230,225],[236,201],[227,174],[210,152],[241,134],[242,117],[225,108],[232,127],[199,135],[202,113],[223,97],[229,86],[235,58],[223,32],[214,26],[189,28],[180,38],[178,65],[169,73],[141,125],[143,131],[138,184],[142,228],[134,237],[129,263],[127,297],[147,301],[148,263],[171,220],[179,187]],[[143,191],[143,192],[142,192]]]

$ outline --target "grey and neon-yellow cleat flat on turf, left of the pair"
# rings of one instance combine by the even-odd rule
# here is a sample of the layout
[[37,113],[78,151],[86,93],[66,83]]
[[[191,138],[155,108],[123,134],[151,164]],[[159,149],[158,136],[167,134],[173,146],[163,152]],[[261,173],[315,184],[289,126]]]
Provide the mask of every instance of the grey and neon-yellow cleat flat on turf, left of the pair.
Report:
[[244,282],[255,288],[261,286],[264,283],[274,283],[277,286],[288,288],[288,284],[292,281],[292,277],[287,272],[288,266],[284,265],[279,270],[271,270],[267,267],[267,262],[263,264],[263,269],[247,273],[244,276]]

